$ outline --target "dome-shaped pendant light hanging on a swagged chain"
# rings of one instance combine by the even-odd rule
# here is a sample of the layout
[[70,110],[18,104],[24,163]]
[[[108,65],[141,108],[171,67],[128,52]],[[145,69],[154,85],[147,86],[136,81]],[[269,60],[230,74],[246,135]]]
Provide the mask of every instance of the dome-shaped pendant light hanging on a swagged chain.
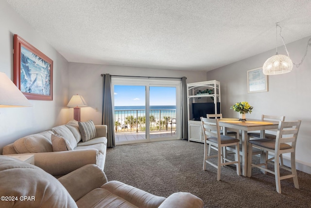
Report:
[[[280,34],[279,35],[282,38],[283,45],[284,45],[285,51],[287,53],[287,56],[277,54],[277,27],[280,28]],[[293,65],[295,65],[296,67],[299,67],[302,64],[303,60],[307,56],[308,46],[311,46],[311,38],[308,41],[306,53],[305,53],[305,56],[301,59],[301,62],[299,64],[293,63],[293,61],[291,60],[290,55],[287,51],[284,38],[282,36],[282,27],[278,23],[276,23],[276,55],[268,58],[266,60],[266,62],[264,62],[263,67],[262,67],[263,74],[264,75],[280,75],[280,74],[285,74],[285,73],[291,72],[293,69]]]

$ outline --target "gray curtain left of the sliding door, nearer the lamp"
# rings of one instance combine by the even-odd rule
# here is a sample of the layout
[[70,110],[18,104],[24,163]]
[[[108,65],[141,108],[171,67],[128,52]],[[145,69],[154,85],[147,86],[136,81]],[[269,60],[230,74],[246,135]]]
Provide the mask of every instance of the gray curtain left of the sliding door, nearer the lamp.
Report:
[[116,137],[114,132],[112,98],[111,98],[111,76],[103,75],[103,115],[102,124],[107,125],[107,147],[116,146]]

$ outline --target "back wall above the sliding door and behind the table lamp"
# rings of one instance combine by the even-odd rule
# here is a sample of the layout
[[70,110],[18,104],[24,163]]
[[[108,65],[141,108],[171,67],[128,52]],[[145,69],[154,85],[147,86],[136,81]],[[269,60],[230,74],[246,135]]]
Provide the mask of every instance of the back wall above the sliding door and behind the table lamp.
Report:
[[[81,108],[81,120],[92,119],[95,124],[102,123],[103,77],[101,74],[121,76],[160,76],[187,77],[187,83],[205,81],[206,72],[178,70],[146,69],[125,66],[69,63],[69,97],[82,95],[88,107]],[[96,111],[96,109],[98,111]],[[69,109],[68,120],[73,118],[73,109]]]

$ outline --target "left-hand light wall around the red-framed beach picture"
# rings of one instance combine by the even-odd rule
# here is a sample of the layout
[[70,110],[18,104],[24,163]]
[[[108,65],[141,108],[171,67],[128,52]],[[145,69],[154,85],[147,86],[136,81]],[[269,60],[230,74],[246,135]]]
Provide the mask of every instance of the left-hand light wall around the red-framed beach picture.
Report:
[[68,61],[5,1],[0,0],[0,72],[13,80],[13,36],[19,35],[53,60],[53,100],[33,107],[0,108],[0,153],[19,137],[63,124],[68,118]]

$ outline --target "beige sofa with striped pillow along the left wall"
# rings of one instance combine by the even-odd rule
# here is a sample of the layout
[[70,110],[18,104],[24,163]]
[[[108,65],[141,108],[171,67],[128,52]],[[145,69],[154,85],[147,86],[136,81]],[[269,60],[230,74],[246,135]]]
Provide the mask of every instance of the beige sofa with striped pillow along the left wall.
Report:
[[17,139],[3,147],[3,155],[34,154],[35,166],[55,177],[68,174],[86,164],[104,170],[107,126],[92,120],[71,120],[65,125]]

